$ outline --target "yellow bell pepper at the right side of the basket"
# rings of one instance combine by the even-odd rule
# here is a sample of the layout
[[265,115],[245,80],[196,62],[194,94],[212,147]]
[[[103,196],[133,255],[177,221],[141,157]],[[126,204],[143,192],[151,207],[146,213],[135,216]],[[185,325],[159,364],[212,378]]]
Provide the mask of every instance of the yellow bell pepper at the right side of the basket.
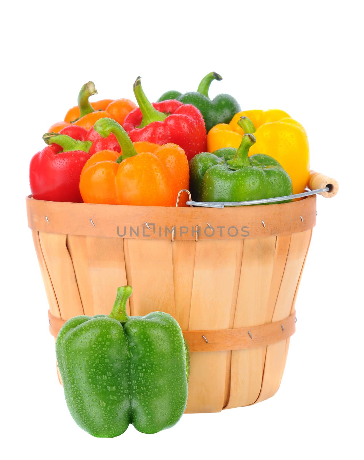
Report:
[[[247,117],[245,130],[238,126],[242,116]],[[220,123],[210,129],[207,150],[212,153],[224,147],[237,149],[246,133],[254,133],[256,137],[249,156],[256,153],[272,156],[289,174],[293,193],[303,192],[310,174],[310,158],[307,134],[302,125],[283,110],[246,110],[234,115],[229,124]]]

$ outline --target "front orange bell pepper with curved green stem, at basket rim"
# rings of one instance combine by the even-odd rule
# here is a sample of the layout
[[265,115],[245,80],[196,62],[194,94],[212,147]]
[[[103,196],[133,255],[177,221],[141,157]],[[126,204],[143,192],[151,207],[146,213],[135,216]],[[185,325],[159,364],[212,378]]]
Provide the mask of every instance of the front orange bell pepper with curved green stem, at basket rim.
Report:
[[[92,155],[82,169],[80,193],[85,203],[135,206],[175,206],[179,190],[188,189],[189,168],[184,150],[176,144],[131,142],[115,120],[95,123],[102,137],[112,132],[122,156],[102,150]],[[181,205],[186,201],[182,200]]]

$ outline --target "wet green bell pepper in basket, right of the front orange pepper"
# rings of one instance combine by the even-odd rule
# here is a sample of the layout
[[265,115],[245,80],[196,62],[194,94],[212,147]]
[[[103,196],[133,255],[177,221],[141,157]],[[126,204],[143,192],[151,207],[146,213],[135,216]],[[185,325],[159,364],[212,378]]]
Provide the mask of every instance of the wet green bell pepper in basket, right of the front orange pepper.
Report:
[[[247,129],[249,119],[238,124]],[[238,149],[203,152],[189,161],[190,191],[194,201],[251,201],[292,195],[292,181],[271,156],[248,156],[254,134],[244,134]],[[280,201],[286,203],[287,201]]]

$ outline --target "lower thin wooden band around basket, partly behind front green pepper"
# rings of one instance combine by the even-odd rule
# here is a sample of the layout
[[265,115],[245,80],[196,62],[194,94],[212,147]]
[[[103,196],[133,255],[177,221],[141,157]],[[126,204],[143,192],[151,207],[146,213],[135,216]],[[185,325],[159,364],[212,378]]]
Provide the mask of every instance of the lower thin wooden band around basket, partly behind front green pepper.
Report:
[[[57,337],[58,331],[66,322],[56,318],[48,310],[49,331]],[[183,331],[190,351],[231,351],[246,350],[280,342],[288,339],[296,330],[296,311],[288,318],[278,322],[236,329],[207,331]]]

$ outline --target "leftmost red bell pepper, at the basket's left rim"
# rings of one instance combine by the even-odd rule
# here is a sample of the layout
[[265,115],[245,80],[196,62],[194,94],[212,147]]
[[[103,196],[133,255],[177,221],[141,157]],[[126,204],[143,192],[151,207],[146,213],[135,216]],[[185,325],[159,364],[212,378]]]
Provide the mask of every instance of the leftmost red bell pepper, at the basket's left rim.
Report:
[[[65,134],[45,134],[51,144],[30,161],[30,190],[36,200],[82,202],[80,174],[90,158],[91,141],[75,140]],[[57,144],[56,144],[57,142]]]

